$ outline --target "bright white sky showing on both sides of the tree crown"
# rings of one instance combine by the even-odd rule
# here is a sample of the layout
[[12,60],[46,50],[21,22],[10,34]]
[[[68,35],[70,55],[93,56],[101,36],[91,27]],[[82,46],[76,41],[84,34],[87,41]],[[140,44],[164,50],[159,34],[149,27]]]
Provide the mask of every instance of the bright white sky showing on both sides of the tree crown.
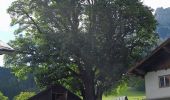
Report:
[[[10,16],[7,13],[8,7],[15,0],[0,0],[0,40],[5,43],[14,39],[13,32],[14,27],[10,26]],[[170,0],[141,0],[145,5],[153,8],[154,10],[158,7],[167,8],[170,7]],[[0,66],[3,65],[3,55],[0,55]]]

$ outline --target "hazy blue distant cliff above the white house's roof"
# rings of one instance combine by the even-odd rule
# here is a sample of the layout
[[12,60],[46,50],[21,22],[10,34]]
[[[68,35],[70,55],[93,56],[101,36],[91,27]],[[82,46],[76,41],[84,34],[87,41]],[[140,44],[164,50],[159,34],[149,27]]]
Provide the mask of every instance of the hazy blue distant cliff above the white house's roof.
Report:
[[157,8],[155,18],[158,21],[157,33],[165,40],[170,38],[170,8]]

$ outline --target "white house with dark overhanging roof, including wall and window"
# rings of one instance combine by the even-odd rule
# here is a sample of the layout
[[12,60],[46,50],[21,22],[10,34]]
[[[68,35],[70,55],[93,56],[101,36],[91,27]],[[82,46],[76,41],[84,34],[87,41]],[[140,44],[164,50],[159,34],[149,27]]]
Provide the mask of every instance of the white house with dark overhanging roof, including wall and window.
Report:
[[147,100],[170,100],[170,39],[128,73],[145,78]]

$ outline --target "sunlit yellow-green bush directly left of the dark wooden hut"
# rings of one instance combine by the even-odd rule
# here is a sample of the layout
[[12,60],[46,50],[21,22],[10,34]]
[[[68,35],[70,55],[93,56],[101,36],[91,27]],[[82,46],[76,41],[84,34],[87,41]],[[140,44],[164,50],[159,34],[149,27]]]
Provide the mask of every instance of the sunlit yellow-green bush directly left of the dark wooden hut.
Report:
[[34,96],[34,92],[21,92],[19,95],[14,97],[14,100],[28,100],[30,97]]

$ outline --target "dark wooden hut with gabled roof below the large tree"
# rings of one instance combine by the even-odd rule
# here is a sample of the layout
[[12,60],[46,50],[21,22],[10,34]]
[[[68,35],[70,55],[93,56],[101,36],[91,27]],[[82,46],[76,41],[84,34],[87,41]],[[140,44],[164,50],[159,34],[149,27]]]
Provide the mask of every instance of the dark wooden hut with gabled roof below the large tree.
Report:
[[28,100],[81,100],[61,85],[52,85]]

